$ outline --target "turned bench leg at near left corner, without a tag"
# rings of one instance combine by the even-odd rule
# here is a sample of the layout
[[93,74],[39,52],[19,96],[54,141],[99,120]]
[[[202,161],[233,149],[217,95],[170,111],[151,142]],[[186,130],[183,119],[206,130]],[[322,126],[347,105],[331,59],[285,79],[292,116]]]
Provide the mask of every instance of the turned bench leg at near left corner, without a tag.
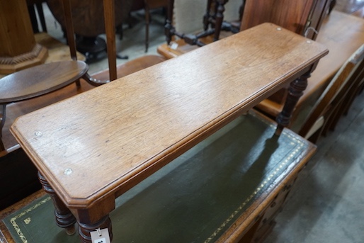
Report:
[[76,232],[76,229],[74,227],[76,218],[74,217],[74,215],[72,215],[69,208],[64,205],[62,200],[57,196],[48,181],[45,179],[44,176],[42,176],[42,174],[40,174],[40,172],[38,172],[38,178],[40,183],[42,184],[43,190],[50,195],[53,201],[53,205],[55,205],[56,224],[59,227],[64,228],[67,234],[74,234]]

